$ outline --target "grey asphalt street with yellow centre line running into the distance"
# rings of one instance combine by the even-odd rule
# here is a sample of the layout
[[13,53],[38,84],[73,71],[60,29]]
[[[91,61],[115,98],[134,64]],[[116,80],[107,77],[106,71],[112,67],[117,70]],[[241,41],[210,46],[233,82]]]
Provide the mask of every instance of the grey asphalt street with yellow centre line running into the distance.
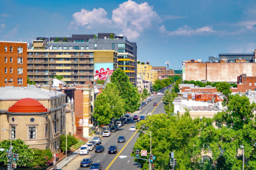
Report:
[[[154,96],[154,99],[144,106],[141,110],[136,111],[132,115],[147,115],[165,113],[163,103],[161,102],[163,96]],[[153,106],[156,102],[158,105]],[[66,166],[62,167],[64,170],[68,169],[89,169],[88,167],[80,167],[80,162],[83,158],[91,158],[93,162],[100,162],[102,169],[113,169],[113,170],[129,170],[129,169],[140,169],[140,165],[134,162],[133,158],[119,158],[119,155],[130,156],[133,151],[133,146],[136,139],[139,137],[139,133],[130,132],[129,128],[135,125],[135,121],[130,121],[122,126],[117,132],[111,133],[110,137],[103,137],[102,145],[105,147],[105,151],[102,153],[95,153],[94,150],[90,151],[88,155],[78,155]],[[118,136],[125,136],[126,141],[124,143],[117,143]],[[127,143],[129,142],[129,143]],[[108,147],[110,145],[116,145],[118,152],[116,154],[108,154]]]

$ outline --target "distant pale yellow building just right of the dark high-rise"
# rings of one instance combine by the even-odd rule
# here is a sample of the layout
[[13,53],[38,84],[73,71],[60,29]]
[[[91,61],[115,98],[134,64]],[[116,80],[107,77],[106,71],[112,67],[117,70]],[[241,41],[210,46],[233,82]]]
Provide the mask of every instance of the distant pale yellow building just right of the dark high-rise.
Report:
[[158,79],[157,70],[152,69],[149,64],[137,64],[137,76],[140,76],[143,80],[148,80],[152,84]]

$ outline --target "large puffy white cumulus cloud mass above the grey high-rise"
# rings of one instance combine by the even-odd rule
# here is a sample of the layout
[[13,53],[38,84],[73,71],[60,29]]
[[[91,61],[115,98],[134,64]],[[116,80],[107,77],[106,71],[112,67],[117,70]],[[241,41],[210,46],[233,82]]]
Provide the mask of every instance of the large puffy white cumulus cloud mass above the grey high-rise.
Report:
[[73,14],[73,21],[69,27],[93,29],[101,26],[121,29],[121,34],[130,39],[136,39],[144,30],[150,29],[153,23],[160,22],[162,19],[153,11],[153,6],[149,6],[148,3],[137,4],[129,0],[112,11],[111,20],[107,18],[107,12],[104,9],[92,11],[82,9],[81,12]]

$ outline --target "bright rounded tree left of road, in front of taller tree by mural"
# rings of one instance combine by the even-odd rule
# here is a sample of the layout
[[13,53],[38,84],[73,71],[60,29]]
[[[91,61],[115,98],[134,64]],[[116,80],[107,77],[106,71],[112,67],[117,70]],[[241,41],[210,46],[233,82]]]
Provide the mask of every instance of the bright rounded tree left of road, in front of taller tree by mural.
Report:
[[121,98],[118,88],[113,83],[108,83],[103,93],[99,94],[95,100],[93,117],[99,121],[100,125],[108,124],[112,118],[123,115],[124,100]]

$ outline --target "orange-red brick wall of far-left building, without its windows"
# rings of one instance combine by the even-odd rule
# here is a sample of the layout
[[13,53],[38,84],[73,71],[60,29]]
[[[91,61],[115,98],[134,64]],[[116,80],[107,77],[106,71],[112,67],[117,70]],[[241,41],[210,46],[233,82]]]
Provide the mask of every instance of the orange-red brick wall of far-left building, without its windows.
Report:
[[[5,47],[7,47],[7,52],[5,52]],[[13,47],[13,52],[10,52],[10,47]],[[23,48],[22,54],[18,54],[18,47]],[[7,57],[7,62],[5,62],[5,57]],[[22,64],[18,64],[18,57],[23,58]],[[27,86],[27,43],[0,42],[0,65],[0,87]],[[7,73],[5,73],[5,68],[8,70]],[[13,68],[13,73],[10,73],[10,68]],[[23,68],[23,74],[18,74],[18,68]],[[13,78],[13,83],[5,83],[5,78],[8,81]],[[18,84],[18,78],[23,78],[23,84]]]

